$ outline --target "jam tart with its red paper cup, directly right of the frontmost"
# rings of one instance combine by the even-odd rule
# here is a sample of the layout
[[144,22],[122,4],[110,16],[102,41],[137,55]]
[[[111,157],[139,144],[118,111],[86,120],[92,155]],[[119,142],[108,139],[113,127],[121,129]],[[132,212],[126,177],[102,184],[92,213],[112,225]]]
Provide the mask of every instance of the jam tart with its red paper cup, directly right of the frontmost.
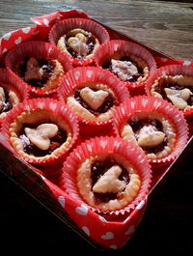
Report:
[[113,125],[117,135],[141,147],[152,163],[173,161],[188,139],[182,112],[154,97],[125,100],[114,112]]

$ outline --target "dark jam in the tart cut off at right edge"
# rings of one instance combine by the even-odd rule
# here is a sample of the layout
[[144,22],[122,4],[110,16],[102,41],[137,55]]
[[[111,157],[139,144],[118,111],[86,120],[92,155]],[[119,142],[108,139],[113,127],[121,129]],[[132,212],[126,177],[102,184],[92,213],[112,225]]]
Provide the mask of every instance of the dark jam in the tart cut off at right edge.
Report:
[[190,106],[193,105],[193,86],[184,86],[184,85],[179,85],[178,83],[167,83],[165,81],[159,81],[158,85],[155,86],[154,91],[160,94],[164,100],[168,100],[169,102],[172,102],[172,100],[168,99],[164,91],[164,88],[169,88],[171,90],[183,90],[185,88],[189,89],[192,94],[187,100],[187,104]]

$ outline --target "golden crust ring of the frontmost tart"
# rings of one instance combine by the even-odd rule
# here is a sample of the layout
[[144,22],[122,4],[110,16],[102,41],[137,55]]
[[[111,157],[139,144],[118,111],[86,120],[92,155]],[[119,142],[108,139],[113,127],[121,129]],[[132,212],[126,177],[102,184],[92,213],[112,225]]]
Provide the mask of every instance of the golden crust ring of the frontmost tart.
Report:
[[[96,201],[95,193],[92,187],[91,166],[95,161],[103,161],[108,157],[112,157],[115,161],[128,171],[129,179],[124,189],[117,193],[117,198],[109,200],[108,202]],[[137,172],[133,169],[130,163],[122,156],[108,154],[102,156],[91,156],[84,160],[77,170],[77,187],[83,199],[92,207],[102,211],[116,211],[123,209],[126,205],[131,203],[137,196],[140,189],[141,181]]]

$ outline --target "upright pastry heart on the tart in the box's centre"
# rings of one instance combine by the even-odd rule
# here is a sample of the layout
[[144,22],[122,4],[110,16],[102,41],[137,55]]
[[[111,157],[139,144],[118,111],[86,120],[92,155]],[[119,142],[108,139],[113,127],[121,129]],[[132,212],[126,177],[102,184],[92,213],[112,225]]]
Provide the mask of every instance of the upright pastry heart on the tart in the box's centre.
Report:
[[97,110],[108,97],[108,92],[103,90],[95,92],[91,88],[85,87],[80,91],[80,96],[90,107]]

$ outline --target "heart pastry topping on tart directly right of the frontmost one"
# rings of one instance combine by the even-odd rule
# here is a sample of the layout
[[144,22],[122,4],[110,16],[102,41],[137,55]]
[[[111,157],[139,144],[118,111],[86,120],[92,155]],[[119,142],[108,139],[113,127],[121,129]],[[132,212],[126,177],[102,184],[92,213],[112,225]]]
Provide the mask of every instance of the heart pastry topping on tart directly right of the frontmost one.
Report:
[[164,138],[165,133],[150,125],[140,129],[137,142],[140,147],[155,147],[161,144]]

